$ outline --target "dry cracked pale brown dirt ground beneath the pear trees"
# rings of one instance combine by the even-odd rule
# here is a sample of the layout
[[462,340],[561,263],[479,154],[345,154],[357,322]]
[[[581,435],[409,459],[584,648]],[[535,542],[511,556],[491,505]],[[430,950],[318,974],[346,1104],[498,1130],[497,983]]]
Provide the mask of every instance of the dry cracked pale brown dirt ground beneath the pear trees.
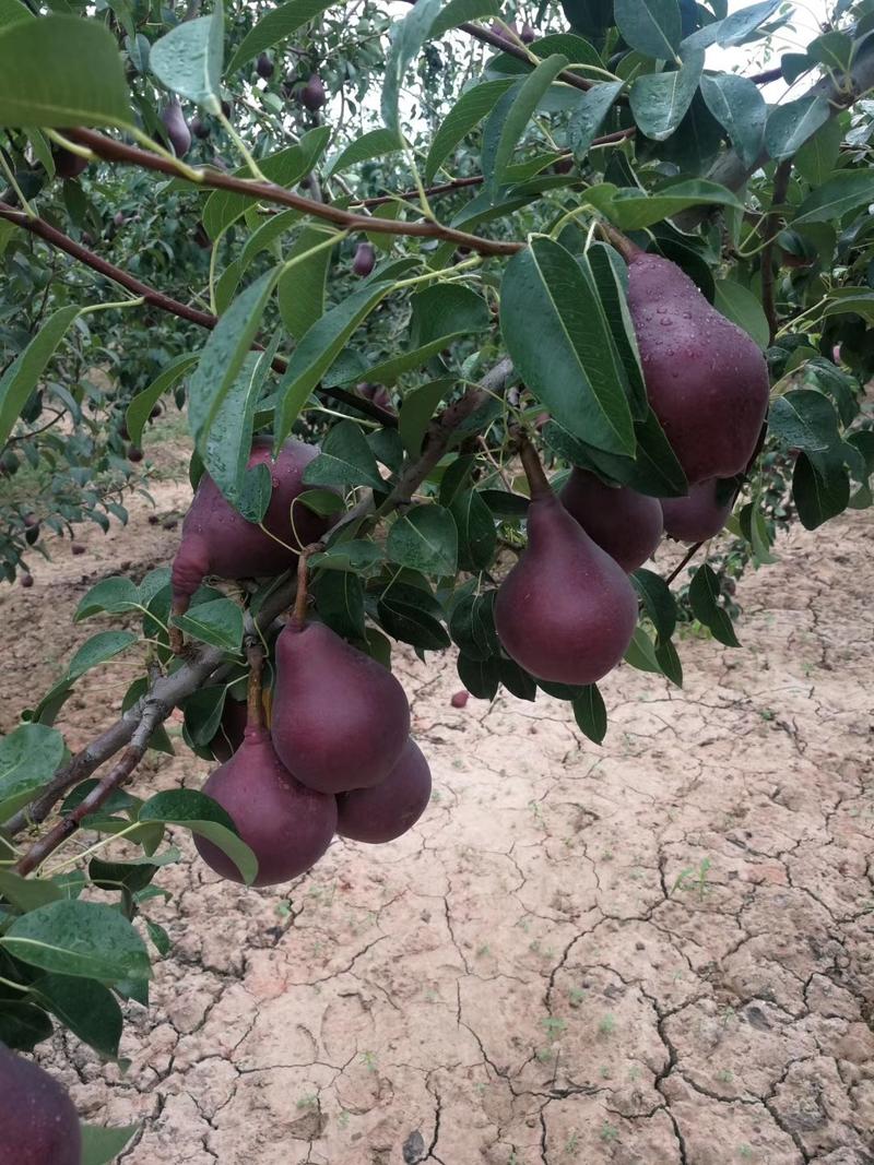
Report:
[[[155,510],[3,591],[3,728],[97,629],[70,621],[84,591],[170,559],[148,516],[188,487],[150,453]],[[178,833],[129,1071],[45,1050],[83,1118],[142,1121],[127,1165],[874,1165],[874,523],[778,552],[739,587],[742,650],[686,642],[683,692],[602,685],[600,748],[545,698],[452,708],[451,655],[397,651],[418,827],[338,840],[286,892],[219,882]],[[87,677],[72,746],[132,666]],[[178,751],[135,790],[198,786]]]

